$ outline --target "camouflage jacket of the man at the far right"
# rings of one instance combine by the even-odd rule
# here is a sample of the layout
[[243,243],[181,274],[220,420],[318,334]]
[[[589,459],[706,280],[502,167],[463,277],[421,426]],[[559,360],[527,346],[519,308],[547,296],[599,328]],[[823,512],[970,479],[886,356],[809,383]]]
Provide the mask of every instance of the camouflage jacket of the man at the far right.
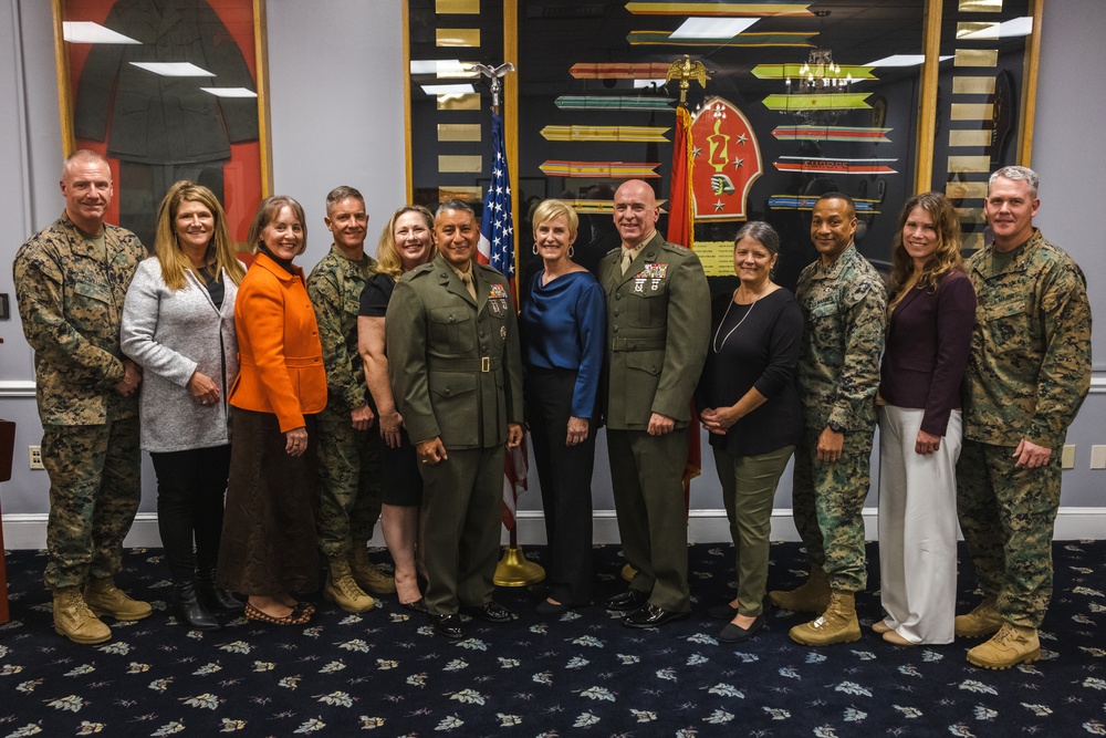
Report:
[[995,446],[1026,438],[1056,449],[1091,388],[1087,280],[1033,230],[994,273],[988,247],[968,260],[975,330],[964,377],[964,436]]

